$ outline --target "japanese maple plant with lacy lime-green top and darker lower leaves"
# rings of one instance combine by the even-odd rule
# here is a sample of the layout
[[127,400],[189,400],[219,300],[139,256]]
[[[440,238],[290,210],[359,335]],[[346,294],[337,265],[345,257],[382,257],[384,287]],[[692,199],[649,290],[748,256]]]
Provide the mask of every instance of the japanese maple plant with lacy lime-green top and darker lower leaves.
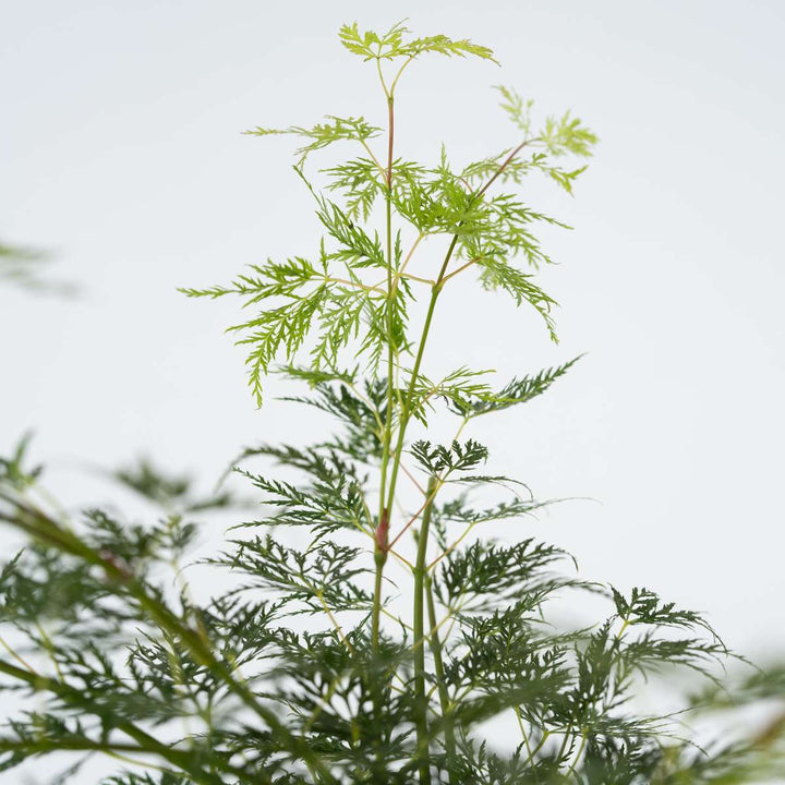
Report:
[[[243,451],[237,470],[258,504],[198,558],[225,587],[206,601],[183,559],[226,494],[196,497],[143,466],[119,479],[159,505],[153,520],[71,519],[37,492],[23,448],[0,464],[0,519],[28,538],[0,577],[0,686],[20,702],[2,769],[68,752],[60,781],[84,782],[100,753],[113,785],[746,782],[750,745],[699,749],[676,717],[636,701],[641,678],[666,666],[717,684],[728,652],[706,623],[648,590],[576,577],[527,523],[546,503],[484,473],[486,418],[542,395],[576,360],[502,381],[428,372],[458,280],[533,309],[556,340],[538,231],[561,225],[520,192],[544,178],[571,194],[595,135],[569,111],[538,119],[499,87],[506,149],[409,160],[396,128],[410,71],[492,51],[401,24],[347,25],[340,43],[378,74],[378,125],[328,117],[249,132],[300,138],[292,177],[323,240],[183,290],[242,301],[231,329],[259,404],[279,374],[300,392],[265,407],[315,407],[335,427]],[[349,157],[314,168],[333,145]],[[476,341],[498,340],[482,330]],[[432,418],[448,415],[454,437],[440,444]],[[602,618],[553,616],[581,593],[587,607],[606,603]]]

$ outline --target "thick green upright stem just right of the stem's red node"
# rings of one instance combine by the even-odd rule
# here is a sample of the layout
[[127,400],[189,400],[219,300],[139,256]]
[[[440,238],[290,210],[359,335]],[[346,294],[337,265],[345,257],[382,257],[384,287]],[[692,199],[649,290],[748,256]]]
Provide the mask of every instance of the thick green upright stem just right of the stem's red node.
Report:
[[420,785],[431,783],[431,762],[428,760],[427,735],[427,700],[425,698],[425,623],[424,623],[424,594],[425,594],[425,561],[427,558],[428,528],[431,526],[431,511],[433,497],[436,491],[437,479],[432,476],[428,481],[428,504],[423,512],[423,522],[418,540],[418,557],[414,566],[414,724],[416,726],[418,757]]

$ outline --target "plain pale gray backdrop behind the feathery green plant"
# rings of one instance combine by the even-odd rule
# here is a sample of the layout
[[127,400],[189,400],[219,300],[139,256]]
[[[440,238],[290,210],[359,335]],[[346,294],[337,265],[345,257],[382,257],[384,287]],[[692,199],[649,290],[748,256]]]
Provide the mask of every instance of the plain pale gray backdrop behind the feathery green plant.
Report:
[[[27,427],[50,486],[140,452],[212,480],[241,445],[307,436],[257,411],[222,334],[237,303],[177,286],[309,254],[316,225],[287,141],[240,132],[325,113],[384,122],[341,22],[410,19],[494,48],[503,69],[432,58],[399,95],[399,152],[460,161],[515,141],[504,82],[601,136],[560,263],[561,345],[461,289],[428,348],[506,375],[589,352],[553,392],[488,419],[495,466],[543,497],[533,527],[588,578],[705,611],[735,648],[785,648],[782,307],[785,4],[766,2],[27,2],[0,15],[0,238],[56,252],[76,301],[0,288],[0,443]],[[435,253],[435,251],[434,251]],[[488,343],[488,335],[504,331]],[[479,431],[475,434],[479,435]]]

